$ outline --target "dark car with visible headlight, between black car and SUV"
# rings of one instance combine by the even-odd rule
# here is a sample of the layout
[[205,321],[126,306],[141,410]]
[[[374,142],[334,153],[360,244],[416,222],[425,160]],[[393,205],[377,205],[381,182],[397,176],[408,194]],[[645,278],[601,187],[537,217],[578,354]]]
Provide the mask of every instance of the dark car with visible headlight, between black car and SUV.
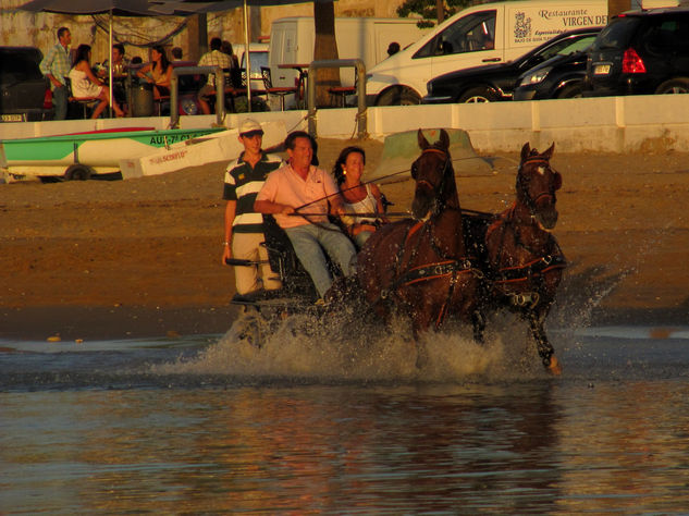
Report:
[[547,61],[522,73],[514,100],[569,99],[581,97],[586,81],[588,49],[594,36],[579,40],[581,50],[566,48]]

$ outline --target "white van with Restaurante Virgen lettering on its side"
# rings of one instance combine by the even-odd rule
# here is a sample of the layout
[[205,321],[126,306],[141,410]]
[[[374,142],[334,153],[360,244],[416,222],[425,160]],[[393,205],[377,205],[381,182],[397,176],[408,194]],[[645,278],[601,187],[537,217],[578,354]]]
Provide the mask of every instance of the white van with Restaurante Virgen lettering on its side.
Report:
[[369,106],[419,103],[426,83],[455,70],[510,61],[574,28],[606,25],[607,0],[534,0],[464,9],[368,72]]

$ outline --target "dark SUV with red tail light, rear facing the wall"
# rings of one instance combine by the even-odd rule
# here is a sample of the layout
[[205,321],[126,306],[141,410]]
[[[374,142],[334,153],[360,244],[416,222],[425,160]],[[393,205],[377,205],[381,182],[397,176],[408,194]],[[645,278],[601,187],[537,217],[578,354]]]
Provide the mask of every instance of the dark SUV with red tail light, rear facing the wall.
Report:
[[620,14],[595,38],[585,96],[689,93],[689,9]]

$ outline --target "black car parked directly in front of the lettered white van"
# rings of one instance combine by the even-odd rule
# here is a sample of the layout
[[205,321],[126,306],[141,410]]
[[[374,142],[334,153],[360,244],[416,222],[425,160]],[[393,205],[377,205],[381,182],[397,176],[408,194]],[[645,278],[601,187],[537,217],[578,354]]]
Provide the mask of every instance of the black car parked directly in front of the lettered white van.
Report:
[[512,99],[519,75],[556,54],[588,47],[601,27],[569,30],[538,46],[514,61],[457,70],[429,81],[423,103],[494,102]]

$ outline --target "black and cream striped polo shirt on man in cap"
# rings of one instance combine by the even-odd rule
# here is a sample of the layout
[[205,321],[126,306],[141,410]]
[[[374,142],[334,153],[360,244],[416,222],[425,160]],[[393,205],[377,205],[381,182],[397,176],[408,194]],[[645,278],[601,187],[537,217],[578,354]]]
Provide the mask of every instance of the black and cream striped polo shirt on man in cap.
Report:
[[262,153],[256,167],[244,161],[244,152],[230,163],[225,171],[225,185],[222,198],[236,200],[237,206],[232,224],[235,233],[262,233],[263,216],[254,211],[256,195],[263,186],[270,172],[281,167],[280,156]]

